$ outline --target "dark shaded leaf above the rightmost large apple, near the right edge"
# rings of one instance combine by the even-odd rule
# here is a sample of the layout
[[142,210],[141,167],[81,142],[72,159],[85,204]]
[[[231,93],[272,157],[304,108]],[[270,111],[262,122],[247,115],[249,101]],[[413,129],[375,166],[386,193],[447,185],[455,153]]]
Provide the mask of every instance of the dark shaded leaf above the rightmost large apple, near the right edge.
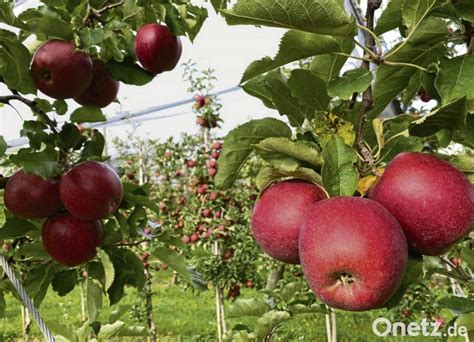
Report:
[[455,130],[466,123],[466,98],[455,100],[410,124],[410,135],[428,137],[441,129]]

